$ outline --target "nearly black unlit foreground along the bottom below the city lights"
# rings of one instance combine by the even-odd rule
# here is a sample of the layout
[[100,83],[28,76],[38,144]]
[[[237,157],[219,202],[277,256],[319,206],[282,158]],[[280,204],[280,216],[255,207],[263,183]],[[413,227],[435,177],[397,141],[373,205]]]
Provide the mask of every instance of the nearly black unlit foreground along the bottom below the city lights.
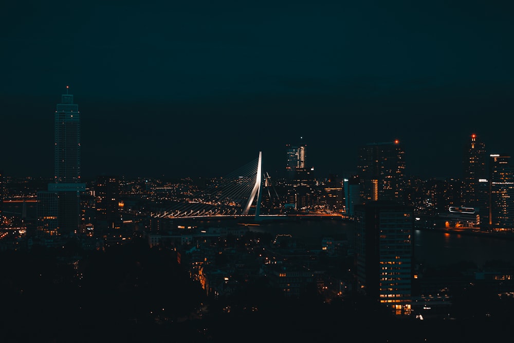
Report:
[[358,296],[288,300],[265,280],[207,297],[176,252],[144,241],[70,263],[76,253],[0,254],[0,342],[482,342],[514,333],[514,301],[477,292],[456,299],[456,319],[398,319]]

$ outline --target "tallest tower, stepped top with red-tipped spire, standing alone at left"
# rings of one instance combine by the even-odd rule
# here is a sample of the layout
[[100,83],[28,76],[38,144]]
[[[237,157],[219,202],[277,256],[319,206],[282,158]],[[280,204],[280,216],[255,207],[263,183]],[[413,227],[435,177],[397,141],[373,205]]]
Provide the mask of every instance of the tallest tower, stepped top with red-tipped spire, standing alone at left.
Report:
[[[85,184],[80,180],[79,106],[73,102],[73,95],[68,94],[66,87],[66,94],[62,95],[54,115],[54,183],[48,185],[46,194],[41,193],[47,205],[40,209],[39,218],[52,218],[54,214],[46,213],[44,208],[53,211],[55,208],[51,204],[57,202],[57,232],[77,232],[80,192],[84,190]],[[52,196],[57,199],[51,200]]]

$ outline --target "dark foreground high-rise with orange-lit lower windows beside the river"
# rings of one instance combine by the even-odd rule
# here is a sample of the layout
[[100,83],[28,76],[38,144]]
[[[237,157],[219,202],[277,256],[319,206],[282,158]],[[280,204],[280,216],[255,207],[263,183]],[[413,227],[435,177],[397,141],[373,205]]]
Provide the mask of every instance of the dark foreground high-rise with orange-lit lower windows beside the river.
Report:
[[397,315],[412,311],[414,209],[393,202],[355,205],[357,281]]

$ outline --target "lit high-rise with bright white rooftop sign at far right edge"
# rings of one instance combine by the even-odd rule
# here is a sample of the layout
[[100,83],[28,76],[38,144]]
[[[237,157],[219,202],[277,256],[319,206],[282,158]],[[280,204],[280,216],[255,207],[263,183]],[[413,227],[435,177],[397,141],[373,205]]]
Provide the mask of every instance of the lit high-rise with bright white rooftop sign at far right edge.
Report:
[[514,168],[510,156],[491,154],[489,159],[489,225],[494,230],[514,230]]

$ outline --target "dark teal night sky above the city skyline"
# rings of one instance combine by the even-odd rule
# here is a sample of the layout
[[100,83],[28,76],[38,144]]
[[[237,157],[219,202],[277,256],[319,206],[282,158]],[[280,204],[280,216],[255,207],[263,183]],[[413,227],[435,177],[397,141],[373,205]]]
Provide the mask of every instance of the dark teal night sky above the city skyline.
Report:
[[[2,2],[5,175],[53,173],[69,85],[82,174],[224,176],[307,144],[319,176],[398,138],[407,174],[461,176],[471,133],[512,153],[507,1]],[[300,137],[303,137],[300,139]]]

